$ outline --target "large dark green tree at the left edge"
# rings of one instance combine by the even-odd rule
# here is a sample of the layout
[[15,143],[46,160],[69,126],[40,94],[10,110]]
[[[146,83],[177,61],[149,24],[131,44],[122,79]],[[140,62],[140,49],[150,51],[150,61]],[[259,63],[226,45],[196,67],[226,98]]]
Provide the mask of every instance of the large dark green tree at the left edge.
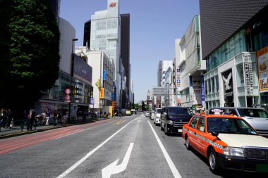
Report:
[[0,0],[0,107],[23,110],[53,86],[59,36],[47,0]]

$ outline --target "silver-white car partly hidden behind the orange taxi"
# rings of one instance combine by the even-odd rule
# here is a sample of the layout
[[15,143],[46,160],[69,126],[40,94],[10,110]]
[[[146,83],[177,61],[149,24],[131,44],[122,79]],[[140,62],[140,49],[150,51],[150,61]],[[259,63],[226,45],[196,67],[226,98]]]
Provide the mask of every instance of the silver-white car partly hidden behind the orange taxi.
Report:
[[247,121],[260,135],[268,137],[268,112],[264,108],[243,108],[243,107],[222,107],[210,108],[212,110],[220,109],[225,114],[233,114],[242,117]]

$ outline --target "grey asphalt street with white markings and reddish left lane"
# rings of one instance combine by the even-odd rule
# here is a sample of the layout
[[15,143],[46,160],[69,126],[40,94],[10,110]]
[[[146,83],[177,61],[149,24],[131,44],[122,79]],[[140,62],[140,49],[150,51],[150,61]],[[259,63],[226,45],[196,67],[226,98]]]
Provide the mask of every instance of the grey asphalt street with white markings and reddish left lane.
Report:
[[143,114],[0,140],[0,177],[260,177],[207,160]]

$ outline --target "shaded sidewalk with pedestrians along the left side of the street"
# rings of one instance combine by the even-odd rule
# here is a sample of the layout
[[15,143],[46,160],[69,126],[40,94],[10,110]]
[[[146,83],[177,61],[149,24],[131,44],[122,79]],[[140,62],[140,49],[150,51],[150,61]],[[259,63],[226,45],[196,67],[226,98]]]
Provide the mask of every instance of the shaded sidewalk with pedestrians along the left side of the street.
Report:
[[54,126],[54,123],[49,123],[50,125],[42,125],[42,126],[37,126],[36,129],[35,127],[32,127],[31,131],[28,131],[26,129],[26,126],[23,127],[23,129],[21,129],[20,125],[15,125],[14,127],[12,127],[12,129],[8,128],[3,128],[1,127],[1,132],[0,132],[0,139],[6,139],[6,138],[10,138],[13,136],[20,136],[20,135],[24,135],[24,134],[32,134],[35,132],[43,132],[49,129],[58,129],[61,127],[68,127],[71,125],[81,125],[81,124],[86,124],[86,123],[90,123],[90,122],[96,122],[99,120],[106,120],[106,119],[111,119],[111,117],[109,118],[96,118],[94,120],[92,120],[91,118],[87,118],[87,120],[85,122],[83,122],[83,117],[78,117],[78,119],[72,120],[70,124],[67,125],[61,125],[58,124],[57,126]]

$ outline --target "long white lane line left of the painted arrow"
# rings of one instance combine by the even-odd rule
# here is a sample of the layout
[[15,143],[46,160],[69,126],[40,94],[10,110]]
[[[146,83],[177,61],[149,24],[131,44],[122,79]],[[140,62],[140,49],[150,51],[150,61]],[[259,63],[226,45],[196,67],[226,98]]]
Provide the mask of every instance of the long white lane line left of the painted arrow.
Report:
[[106,144],[107,141],[109,141],[111,138],[113,138],[122,129],[124,129],[125,127],[127,127],[131,122],[133,122],[133,120],[131,120],[130,122],[128,122],[127,125],[125,125],[121,129],[119,129],[116,133],[112,134],[108,139],[106,139],[104,142],[102,142],[102,144],[99,144],[99,146],[97,146],[92,151],[90,151],[89,153],[87,153],[87,155],[85,155],[83,158],[81,158],[80,160],[78,160],[78,162],[76,162],[74,165],[72,165],[70,168],[68,168],[68,170],[66,170],[65,172],[63,172],[62,174],[60,174],[57,178],[66,177],[66,175],[68,175],[70,172],[72,172],[76,167],[78,167],[78,165],[80,165],[81,163],[83,163],[87,158],[90,157],[90,155],[92,155],[93,153],[95,153],[95,151],[97,151],[104,144]]

